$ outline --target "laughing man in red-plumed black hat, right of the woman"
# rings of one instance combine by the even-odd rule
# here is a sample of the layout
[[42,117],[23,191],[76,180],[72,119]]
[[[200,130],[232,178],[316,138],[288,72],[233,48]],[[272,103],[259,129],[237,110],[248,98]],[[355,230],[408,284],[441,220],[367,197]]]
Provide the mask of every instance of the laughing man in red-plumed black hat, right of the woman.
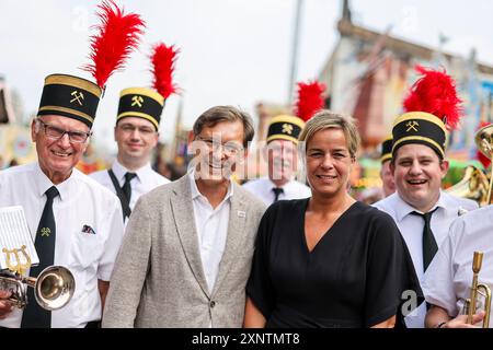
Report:
[[[448,171],[447,133],[462,116],[456,83],[445,71],[416,70],[422,77],[412,85],[403,104],[405,113],[395,118],[392,128],[390,170],[397,191],[375,206],[394,219],[423,281],[451,222],[478,205],[442,190]],[[424,327],[425,314],[423,303],[406,315],[405,325]]]

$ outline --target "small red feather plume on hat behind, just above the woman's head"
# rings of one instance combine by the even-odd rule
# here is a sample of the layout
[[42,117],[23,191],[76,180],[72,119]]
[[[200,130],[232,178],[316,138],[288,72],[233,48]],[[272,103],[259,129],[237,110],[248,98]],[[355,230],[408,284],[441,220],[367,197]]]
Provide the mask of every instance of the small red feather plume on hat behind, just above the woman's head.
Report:
[[323,93],[325,84],[320,82],[299,82],[298,83],[298,100],[296,101],[295,114],[307,121],[317,112],[323,108]]

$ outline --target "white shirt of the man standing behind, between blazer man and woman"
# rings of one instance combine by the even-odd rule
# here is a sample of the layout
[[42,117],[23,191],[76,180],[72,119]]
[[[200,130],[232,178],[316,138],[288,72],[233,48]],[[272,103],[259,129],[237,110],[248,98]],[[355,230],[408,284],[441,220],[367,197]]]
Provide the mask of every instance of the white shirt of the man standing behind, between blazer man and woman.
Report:
[[[274,202],[275,195],[272,189],[277,186],[268,177],[252,179],[243,184],[243,187],[260,198],[266,206],[271,206]],[[311,197],[310,187],[295,179],[291,179],[282,188],[284,191],[279,195],[278,200]]]

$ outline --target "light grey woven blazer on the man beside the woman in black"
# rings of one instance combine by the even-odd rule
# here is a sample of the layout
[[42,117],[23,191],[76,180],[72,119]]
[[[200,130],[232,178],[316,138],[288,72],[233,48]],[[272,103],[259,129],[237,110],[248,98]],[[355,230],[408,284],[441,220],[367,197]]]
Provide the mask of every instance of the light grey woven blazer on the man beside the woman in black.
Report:
[[202,266],[190,178],[144,195],[113,270],[103,327],[241,327],[265,205],[233,184],[225,253],[211,293]]

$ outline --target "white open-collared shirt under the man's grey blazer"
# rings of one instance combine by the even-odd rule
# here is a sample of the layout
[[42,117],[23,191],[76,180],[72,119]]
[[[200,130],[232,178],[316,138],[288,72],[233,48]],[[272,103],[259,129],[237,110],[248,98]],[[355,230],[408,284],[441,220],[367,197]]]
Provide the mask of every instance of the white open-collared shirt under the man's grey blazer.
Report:
[[214,209],[208,199],[198,190],[194,172],[190,172],[188,177],[192,188],[192,203],[194,206],[202,266],[209,292],[211,292],[219,271],[219,262],[221,261],[222,253],[225,253],[229,214],[231,211],[230,198],[233,195],[233,187],[230,183],[225,199]]

